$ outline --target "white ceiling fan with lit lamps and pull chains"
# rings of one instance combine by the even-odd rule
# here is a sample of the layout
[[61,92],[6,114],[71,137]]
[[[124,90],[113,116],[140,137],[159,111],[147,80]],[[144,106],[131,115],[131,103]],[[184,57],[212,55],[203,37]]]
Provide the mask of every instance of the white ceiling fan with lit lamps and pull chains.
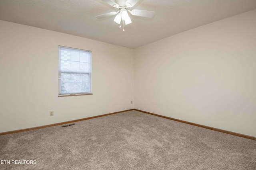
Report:
[[103,2],[106,2],[107,4],[118,8],[117,12],[109,12],[107,14],[102,14],[100,16],[96,16],[98,19],[102,19],[109,16],[116,15],[114,21],[118,24],[120,24],[121,28],[121,21],[123,23],[123,31],[124,31],[124,25],[128,25],[132,23],[131,18],[128,15],[128,12],[130,12],[134,16],[142,16],[147,18],[153,18],[155,12],[154,11],[146,11],[146,10],[132,10],[129,9],[132,8],[139,0],[102,0]]

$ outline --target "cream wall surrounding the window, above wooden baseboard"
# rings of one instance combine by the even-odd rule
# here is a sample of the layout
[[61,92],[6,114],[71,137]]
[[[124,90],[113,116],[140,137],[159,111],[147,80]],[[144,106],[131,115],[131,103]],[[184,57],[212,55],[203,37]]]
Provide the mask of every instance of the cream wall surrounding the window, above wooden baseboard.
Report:
[[[93,95],[58,98],[58,45],[92,51]],[[133,109],[133,56],[133,49],[0,21],[0,132]]]

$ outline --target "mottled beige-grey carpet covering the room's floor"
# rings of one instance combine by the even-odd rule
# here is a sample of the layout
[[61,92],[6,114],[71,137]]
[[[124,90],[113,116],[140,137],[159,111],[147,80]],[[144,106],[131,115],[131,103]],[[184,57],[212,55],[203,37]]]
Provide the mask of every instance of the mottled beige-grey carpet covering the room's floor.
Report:
[[0,160],[1,170],[256,170],[256,141],[127,111],[0,136]]

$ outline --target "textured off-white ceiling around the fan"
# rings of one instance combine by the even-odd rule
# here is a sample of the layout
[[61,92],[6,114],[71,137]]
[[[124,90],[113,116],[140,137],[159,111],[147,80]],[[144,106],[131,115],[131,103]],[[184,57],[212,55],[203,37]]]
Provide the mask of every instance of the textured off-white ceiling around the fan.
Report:
[[256,0],[140,0],[130,9],[155,11],[155,16],[130,15],[132,23],[122,31],[114,16],[95,18],[117,11],[102,0],[0,0],[0,20],[136,48],[254,10]]

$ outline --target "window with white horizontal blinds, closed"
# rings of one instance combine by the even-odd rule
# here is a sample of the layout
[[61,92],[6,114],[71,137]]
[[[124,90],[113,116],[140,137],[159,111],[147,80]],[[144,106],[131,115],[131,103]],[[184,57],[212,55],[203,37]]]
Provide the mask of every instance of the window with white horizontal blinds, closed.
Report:
[[59,95],[92,94],[91,51],[58,46]]

